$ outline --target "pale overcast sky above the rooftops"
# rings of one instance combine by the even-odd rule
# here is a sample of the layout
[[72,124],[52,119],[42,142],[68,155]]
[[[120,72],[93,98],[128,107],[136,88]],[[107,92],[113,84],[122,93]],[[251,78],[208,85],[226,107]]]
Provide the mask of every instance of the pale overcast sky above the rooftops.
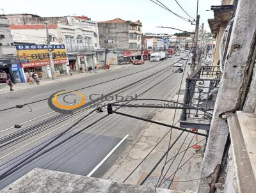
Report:
[[[156,1],[156,0],[154,0]],[[188,14],[196,17],[196,0],[177,0]],[[173,12],[188,17],[175,0],[161,0]],[[198,14],[200,15],[200,25],[204,22],[205,29],[209,31],[207,19],[213,18],[211,5],[220,5],[221,0],[199,0]],[[156,28],[156,26],[175,27],[182,30],[192,31],[195,26],[191,26],[172,13],[164,10],[152,3],[150,0],[1,0],[0,9],[5,14],[9,13],[33,13],[42,17],[77,15],[87,16],[95,21],[111,20],[121,18],[124,20],[140,20],[142,22],[143,33],[177,33],[179,31]],[[0,10],[3,14],[3,10]]]

